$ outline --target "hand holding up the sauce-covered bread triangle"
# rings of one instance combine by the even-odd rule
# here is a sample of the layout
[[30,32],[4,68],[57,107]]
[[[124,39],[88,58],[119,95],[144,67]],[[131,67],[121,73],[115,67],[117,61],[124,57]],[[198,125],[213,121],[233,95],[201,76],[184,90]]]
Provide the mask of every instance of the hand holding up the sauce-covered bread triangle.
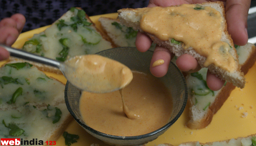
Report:
[[[193,4],[193,3],[204,3],[209,0],[150,0],[148,7],[167,7],[170,5],[180,5],[180,4]],[[210,0],[216,1],[216,0]],[[224,2],[226,11],[227,27],[234,44],[242,46],[248,42],[247,34],[247,16],[248,10],[251,4],[251,0],[221,0]],[[144,33],[138,32],[136,38],[136,47],[139,51],[145,52],[151,46],[151,39]],[[150,71],[156,77],[162,77],[167,73],[167,69],[171,58],[174,55],[164,47],[156,46],[154,54],[151,59]],[[159,66],[152,67],[153,62],[163,59],[164,63]],[[184,72],[197,72],[200,69],[197,60],[188,54],[183,54],[177,58],[176,64],[178,68]],[[222,88],[225,81],[216,77],[214,74],[207,72],[206,79],[208,87],[217,91]]]

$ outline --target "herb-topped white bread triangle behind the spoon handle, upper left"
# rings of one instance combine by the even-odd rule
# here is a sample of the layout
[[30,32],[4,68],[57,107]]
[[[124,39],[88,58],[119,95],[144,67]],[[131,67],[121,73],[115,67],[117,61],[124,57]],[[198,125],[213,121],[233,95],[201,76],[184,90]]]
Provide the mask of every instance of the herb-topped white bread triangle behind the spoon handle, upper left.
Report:
[[[59,61],[75,55],[94,54],[115,47],[101,33],[81,8],[71,8],[49,28],[34,34],[25,42],[23,50]],[[60,70],[31,62],[42,71],[60,73]]]

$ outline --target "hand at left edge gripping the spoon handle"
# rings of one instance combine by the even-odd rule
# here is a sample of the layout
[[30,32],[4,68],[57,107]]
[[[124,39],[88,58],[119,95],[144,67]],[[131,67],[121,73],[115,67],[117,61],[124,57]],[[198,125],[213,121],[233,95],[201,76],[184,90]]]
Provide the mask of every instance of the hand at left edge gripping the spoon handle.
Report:
[[[25,25],[26,19],[22,14],[14,14],[0,21],[0,43],[11,46],[18,38]],[[7,59],[9,52],[0,47],[0,61]]]

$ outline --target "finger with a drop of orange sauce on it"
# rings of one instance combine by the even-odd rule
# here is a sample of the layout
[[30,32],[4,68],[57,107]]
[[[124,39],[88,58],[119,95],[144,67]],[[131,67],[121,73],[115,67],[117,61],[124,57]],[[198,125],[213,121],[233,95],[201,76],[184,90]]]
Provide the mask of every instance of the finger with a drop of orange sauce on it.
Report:
[[[168,49],[156,46],[150,63],[150,72],[156,77],[164,76],[168,71],[171,57],[171,53]],[[163,64],[152,67],[153,63],[159,59],[164,61]]]

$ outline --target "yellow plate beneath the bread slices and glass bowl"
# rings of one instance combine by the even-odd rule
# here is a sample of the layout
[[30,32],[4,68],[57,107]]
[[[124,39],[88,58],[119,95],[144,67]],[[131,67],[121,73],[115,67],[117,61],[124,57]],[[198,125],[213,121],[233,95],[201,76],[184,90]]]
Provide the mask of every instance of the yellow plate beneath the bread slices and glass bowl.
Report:
[[[109,18],[116,18],[117,14],[105,14],[91,16],[91,20],[101,30],[98,18],[104,16]],[[31,38],[33,34],[44,31],[49,26],[41,27],[35,30],[27,31],[20,34],[13,47],[21,48],[27,38]],[[3,62],[1,62],[3,64]],[[174,146],[183,142],[200,141],[200,142],[212,142],[222,141],[237,137],[246,137],[251,134],[256,134],[256,64],[246,74],[246,85],[244,89],[236,88],[230,95],[230,97],[223,104],[221,109],[214,115],[211,124],[201,130],[191,130],[185,126],[188,120],[188,107],[177,120],[163,135],[158,137],[152,142],[146,144],[146,146],[155,146],[161,143],[170,143]],[[66,79],[62,75],[56,75],[52,73],[46,73],[49,76],[57,78],[63,83]],[[241,110],[238,110],[242,107]],[[248,113],[246,118],[242,118],[244,112]],[[71,134],[78,134],[79,139],[77,143],[73,143],[72,146],[90,146],[91,144],[99,144],[100,146],[108,146],[107,144],[99,141],[88,134],[78,123],[73,120],[66,131]],[[64,138],[61,136],[56,139],[56,146],[64,146]]]

